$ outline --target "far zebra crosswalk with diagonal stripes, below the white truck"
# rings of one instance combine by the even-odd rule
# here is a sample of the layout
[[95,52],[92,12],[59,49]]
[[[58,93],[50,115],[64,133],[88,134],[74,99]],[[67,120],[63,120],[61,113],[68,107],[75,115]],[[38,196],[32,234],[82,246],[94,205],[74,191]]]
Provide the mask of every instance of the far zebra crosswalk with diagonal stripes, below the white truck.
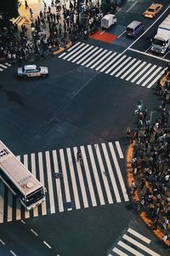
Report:
[[147,88],[156,84],[165,71],[164,67],[81,42],[60,54],[59,58]]

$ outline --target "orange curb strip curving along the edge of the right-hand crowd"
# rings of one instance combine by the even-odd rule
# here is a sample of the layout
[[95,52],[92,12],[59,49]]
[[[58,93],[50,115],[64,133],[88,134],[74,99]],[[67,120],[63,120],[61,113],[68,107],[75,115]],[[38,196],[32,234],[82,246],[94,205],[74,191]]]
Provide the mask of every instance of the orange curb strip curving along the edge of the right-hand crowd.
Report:
[[[128,148],[127,148],[127,183],[128,183],[128,187],[130,189],[130,185],[132,183],[132,181],[134,180],[134,176],[133,176],[133,169],[132,169],[132,166],[131,166],[131,162],[132,162],[132,159],[133,159],[133,149],[134,149],[134,146],[136,145],[135,142],[129,144]],[[139,202],[139,192],[138,190],[136,190],[135,192],[135,195],[133,196],[133,200],[136,201],[136,202]],[[153,224],[153,221],[147,217],[147,214],[146,212],[141,212],[140,213],[140,218],[142,218],[142,220],[144,221],[144,223],[149,227],[151,228],[152,227],[152,224]],[[163,232],[159,229],[157,230],[152,230],[152,232],[157,236],[157,238],[161,241],[163,241]],[[168,247],[170,247],[170,241],[165,241],[164,242]]]

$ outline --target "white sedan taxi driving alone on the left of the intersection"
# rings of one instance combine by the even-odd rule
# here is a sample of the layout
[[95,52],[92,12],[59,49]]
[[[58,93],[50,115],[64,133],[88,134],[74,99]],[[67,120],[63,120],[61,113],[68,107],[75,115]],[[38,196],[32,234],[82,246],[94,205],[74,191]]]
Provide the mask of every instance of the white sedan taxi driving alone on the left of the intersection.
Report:
[[46,77],[47,75],[48,67],[37,67],[36,65],[25,65],[24,67],[18,67],[19,77]]

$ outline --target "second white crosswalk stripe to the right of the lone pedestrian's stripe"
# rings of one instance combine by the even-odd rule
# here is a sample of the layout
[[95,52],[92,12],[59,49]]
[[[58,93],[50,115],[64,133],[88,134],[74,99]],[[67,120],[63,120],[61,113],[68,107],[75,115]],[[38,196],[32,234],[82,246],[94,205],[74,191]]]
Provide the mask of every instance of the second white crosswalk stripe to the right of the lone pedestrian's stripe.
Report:
[[104,195],[103,195],[101,185],[100,185],[100,182],[99,182],[99,175],[98,175],[97,167],[96,167],[96,164],[95,164],[95,161],[94,161],[94,153],[93,153],[91,145],[88,145],[88,154],[89,154],[89,157],[90,157],[90,160],[91,160],[92,170],[94,172],[94,179],[95,179],[95,183],[96,183],[96,188],[98,190],[99,202],[100,202],[101,206],[104,206],[105,205],[105,199],[104,199]]

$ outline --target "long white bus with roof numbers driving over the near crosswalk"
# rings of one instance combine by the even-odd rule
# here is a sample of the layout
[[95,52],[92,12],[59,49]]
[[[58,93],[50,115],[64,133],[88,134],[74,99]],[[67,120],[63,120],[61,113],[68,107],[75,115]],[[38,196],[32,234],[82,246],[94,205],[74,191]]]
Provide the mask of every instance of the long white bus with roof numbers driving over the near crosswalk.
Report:
[[45,201],[46,189],[0,141],[0,178],[20,203],[30,211]]

